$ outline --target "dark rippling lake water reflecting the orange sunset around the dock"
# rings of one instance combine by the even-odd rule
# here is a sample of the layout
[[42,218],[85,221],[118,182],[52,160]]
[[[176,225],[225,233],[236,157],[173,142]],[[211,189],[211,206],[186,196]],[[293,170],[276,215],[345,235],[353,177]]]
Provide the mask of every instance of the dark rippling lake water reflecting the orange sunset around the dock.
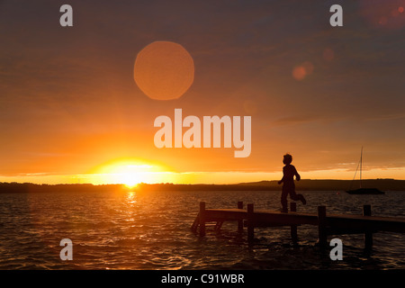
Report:
[[[349,195],[304,192],[298,211],[405,217],[405,193]],[[332,261],[315,243],[318,230],[298,228],[294,247],[289,228],[257,228],[247,244],[246,229],[224,223],[200,238],[190,227],[199,202],[207,208],[280,209],[280,192],[128,192],[0,194],[0,269],[404,269],[405,235],[374,234],[371,255],[363,235],[343,235],[343,260]],[[73,242],[73,260],[62,261],[59,242]],[[329,240],[332,237],[329,236]]]

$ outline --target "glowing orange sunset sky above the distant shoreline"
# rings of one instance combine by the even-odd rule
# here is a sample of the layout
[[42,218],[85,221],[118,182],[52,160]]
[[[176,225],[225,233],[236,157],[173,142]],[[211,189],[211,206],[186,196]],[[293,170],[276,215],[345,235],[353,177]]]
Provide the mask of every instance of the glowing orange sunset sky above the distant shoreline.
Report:
[[[362,146],[365,178],[405,179],[405,1],[342,1],[338,28],[333,3],[309,3],[70,1],[74,26],[62,28],[57,3],[2,1],[0,181],[271,180],[286,152],[302,178],[351,179]],[[155,41],[193,60],[176,99],[151,99],[134,81]],[[156,148],[153,123],[175,108],[251,116],[250,156]]]

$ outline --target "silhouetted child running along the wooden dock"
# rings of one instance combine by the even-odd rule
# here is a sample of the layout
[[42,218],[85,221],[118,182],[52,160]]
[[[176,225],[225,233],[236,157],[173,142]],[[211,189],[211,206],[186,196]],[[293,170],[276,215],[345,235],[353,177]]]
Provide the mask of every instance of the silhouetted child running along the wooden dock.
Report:
[[300,181],[301,176],[298,174],[297,169],[295,169],[295,167],[291,165],[291,162],[293,162],[293,157],[288,153],[285,154],[283,159],[283,163],[285,164],[285,166],[283,167],[283,178],[278,182],[278,184],[283,183],[283,192],[281,197],[283,212],[288,212],[288,194],[290,194],[290,198],[293,199],[293,201],[300,200],[304,205],[307,203],[302,194],[295,193],[294,175],[297,181]]

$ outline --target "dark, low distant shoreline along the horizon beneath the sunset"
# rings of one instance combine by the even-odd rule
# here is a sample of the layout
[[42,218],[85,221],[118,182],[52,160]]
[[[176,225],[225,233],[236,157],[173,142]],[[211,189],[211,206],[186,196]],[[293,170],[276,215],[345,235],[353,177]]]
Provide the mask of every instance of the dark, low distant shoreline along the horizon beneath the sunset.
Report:
[[[310,180],[295,182],[297,191],[346,191],[358,188],[359,180]],[[362,180],[365,188],[383,191],[405,191],[405,180],[368,179]],[[32,184],[0,183],[0,193],[35,192],[102,192],[102,191],[280,191],[282,185],[276,180],[239,184],[138,184],[130,189],[124,184]]]

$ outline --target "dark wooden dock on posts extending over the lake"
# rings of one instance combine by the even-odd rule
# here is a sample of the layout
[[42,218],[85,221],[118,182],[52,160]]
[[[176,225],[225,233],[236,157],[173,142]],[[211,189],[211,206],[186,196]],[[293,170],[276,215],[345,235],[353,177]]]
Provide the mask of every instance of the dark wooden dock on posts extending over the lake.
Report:
[[237,221],[238,231],[247,227],[247,240],[252,243],[254,230],[257,227],[290,226],[291,237],[294,243],[298,242],[298,226],[318,226],[318,243],[327,245],[328,235],[364,234],[365,248],[373,246],[373,233],[389,231],[405,233],[405,219],[396,217],[376,217],[371,215],[371,206],[363,207],[363,215],[327,214],[326,206],[318,206],[318,213],[304,213],[296,211],[296,203],[292,202],[288,213],[281,211],[254,210],[254,204],[238,202],[235,209],[206,209],[205,202],[200,202],[200,211],[195,218],[191,229],[205,236],[206,226],[214,223],[214,229],[219,230],[224,221]]

